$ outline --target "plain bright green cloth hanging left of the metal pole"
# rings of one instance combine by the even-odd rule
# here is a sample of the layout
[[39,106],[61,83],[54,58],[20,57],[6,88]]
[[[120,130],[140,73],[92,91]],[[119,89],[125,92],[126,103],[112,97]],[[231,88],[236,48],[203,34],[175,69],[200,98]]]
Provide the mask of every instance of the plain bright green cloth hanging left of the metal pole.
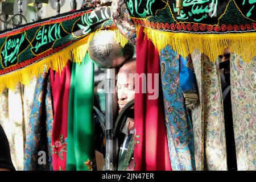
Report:
[[68,108],[67,170],[90,171],[94,160],[94,64],[88,53],[73,63]]

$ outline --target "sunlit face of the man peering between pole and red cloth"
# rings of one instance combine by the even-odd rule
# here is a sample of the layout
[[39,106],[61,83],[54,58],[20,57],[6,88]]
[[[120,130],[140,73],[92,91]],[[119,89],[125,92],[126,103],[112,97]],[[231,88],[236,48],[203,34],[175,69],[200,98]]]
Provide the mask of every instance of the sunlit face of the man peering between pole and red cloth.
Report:
[[134,78],[129,80],[129,73],[135,73],[135,65],[122,67],[117,75],[117,94],[119,111],[131,100],[135,98]]

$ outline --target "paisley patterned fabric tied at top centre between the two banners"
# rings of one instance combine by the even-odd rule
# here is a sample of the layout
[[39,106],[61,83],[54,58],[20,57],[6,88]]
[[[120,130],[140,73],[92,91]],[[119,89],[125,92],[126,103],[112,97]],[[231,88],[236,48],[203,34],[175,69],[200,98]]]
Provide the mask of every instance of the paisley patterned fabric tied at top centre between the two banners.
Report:
[[118,27],[118,30],[125,36],[131,43],[136,45],[136,28],[131,20],[129,10],[125,0],[112,1],[112,18]]

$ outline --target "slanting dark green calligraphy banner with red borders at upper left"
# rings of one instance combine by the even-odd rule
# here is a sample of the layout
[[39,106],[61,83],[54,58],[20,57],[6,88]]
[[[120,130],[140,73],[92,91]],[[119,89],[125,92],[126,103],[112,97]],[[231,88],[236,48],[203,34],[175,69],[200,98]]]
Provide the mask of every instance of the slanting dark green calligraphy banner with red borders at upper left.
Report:
[[113,27],[111,8],[83,9],[0,32],[0,77],[61,51],[97,28]]

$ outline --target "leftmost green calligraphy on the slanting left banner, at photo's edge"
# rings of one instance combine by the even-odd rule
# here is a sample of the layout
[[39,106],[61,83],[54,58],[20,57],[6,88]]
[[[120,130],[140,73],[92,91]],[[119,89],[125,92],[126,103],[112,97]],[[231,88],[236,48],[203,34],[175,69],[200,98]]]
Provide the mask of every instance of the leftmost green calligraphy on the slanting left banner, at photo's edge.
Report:
[[18,55],[20,53],[20,48],[24,48],[22,43],[25,40],[26,34],[19,34],[15,36],[11,36],[6,39],[5,46],[2,47],[1,57],[3,67],[9,67],[18,61]]

